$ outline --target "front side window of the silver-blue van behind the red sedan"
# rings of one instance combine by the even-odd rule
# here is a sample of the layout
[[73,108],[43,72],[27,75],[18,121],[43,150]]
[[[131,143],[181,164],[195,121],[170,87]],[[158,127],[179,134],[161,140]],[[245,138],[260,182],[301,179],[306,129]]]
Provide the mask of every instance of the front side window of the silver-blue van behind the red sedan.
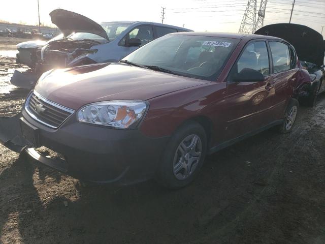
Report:
[[127,41],[131,38],[138,38],[141,40],[141,46],[151,42],[153,40],[152,27],[150,25],[140,25],[131,32],[127,33],[118,45],[126,46]]

